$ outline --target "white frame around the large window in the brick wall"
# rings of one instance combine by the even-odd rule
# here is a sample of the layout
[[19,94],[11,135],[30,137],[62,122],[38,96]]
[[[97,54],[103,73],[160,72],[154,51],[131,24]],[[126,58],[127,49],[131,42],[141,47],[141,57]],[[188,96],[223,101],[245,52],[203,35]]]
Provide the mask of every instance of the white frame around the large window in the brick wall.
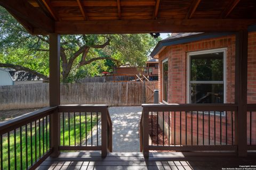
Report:
[[190,56],[198,54],[207,54],[207,53],[223,53],[223,81],[196,81],[197,83],[223,83],[223,103],[226,103],[226,58],[227,58],[227,48],[217,48],[209,50],[201,50],[197,52],[187,53],[187,103],[191,102],[191,88],[190,84],[194,81],[190,81]]

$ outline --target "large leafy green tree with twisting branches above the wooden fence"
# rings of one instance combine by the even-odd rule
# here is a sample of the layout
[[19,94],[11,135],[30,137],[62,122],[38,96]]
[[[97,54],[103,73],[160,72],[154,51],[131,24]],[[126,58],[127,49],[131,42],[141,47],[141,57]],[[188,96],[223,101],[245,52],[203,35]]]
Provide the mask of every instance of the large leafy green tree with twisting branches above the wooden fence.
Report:
[[[61,36],[62,81],[97,75],[99,71],[111,70],[111,66],[143,66],[158,40],[149,34]],[[39,77],[47,79],[49,36],[30,35],[3,7],[0,52],[0,66],[36,71]]]

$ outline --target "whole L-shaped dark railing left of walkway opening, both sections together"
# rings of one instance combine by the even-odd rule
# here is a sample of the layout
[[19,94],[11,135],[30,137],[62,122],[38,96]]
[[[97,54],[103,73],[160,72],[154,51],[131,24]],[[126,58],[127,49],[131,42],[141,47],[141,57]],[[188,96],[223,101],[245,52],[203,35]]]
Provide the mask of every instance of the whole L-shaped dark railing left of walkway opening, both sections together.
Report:
[[[51,117],[59,116],[60,118],[60,115],[61,115],[60,112],[62,112],[62,119],[59,119],[59,122],[52,122]],[[68,114],[68,120],[66,120],[66,118],[63,118],[63,115],[65,113]],[[69,117],[70,113],[73,113],[71,117]],[[101,135],[102,135],[101,146],[98,145],[99,113],[101,115]],[[69,146],[66,146],[66,145],[53,146],[54,144],[52,145],[52,142],[55,141],[56,143],[57,140],[60,140],[59,132],[61,129],[53,128],[52,124],[57,123],[61,125],[61,128],[63,128],[64,127],[63,123],[65,121],[68,121],[68,126],[69,126],[70,119],[72,119],[71,121],[74,122],[73,131],[74,130],[76,131],[76,128],[80,130],[79,131],[80,135],[78,135],[78,137],[80,138],[80,141],[81,141],[82,114],[84,118],[87,117],[87,114],[90,115],[87,117],[87,118],[90,118],[91,120],[90,122],[87,122],[90,124],[90,128],[92,127],[92,118],[93,118],[92,116],[94,116],[95,118],[94,121],[96,122],[95,124],[97,124],[97,146],[87,146],[87,145],[83,146],[82,143],[80,143],[80,145],[75,144],[75,146],[70,146],[70,144]],[[76,126],[75,120],[78,120],[80,125]],[[85,122],[83,121],[82,123],[85,123]],[[8,162],[8,165],[7,165],[8,168],[12,169],[13,164],[11,164],[12,160],[10,159],[10,152],[14,152],[15,158],[17,159],[17,162],[15,162],[15,165],[14,165],[15,168],[19,168],[19,165],[22,165],[22,163],[21,164],[18,163],[18,161],[20,160],[22,162],[22,157],[19,157],[19,158],[17,157],[16,155],[16,152],[18,152],[16,150],[17,147],[20,147],[20,150],[21,150],[20,152],[26,152],[26,157],[23,158],[23,162],[24,162],[23,165],[26,164],[26,168],[31,168],[31,169],[35,169],[37,166],[39,166],[39,164],[41,164],[47,157],[49,157],[51,154],[53,154],[53,152],[55,152],[55,149],[57,149],[57,151],[59,150],[101,150],[102,156],[105,157],[108,151],[112,151],[112,131],[113,131],[112,126],[113,124],[111,121],[110,114],[108,112],[108,105],[59,105],[55,107],[46,107],[43,109],[39,109],[38,111],[34,111],[31,113],[13,118],[12,120],[2,122],[0,123],[0,157],[1,157],[0,168],[1,169],[3,168],[3,160],[4,160]],[[57,126],[57,127],[60,127],[60,126]],[[77,136],[75,131],[74,131],[75,133],[74,140],[76,143]],[[64,129],[62,129],[61,134],[63,134],[63,132],[64,132]],[[91,128],[91,132],[92,132],[92,128]],[[59,134],[59,135],[54,136],[54,134]],[[23,142],[24,144],[19,146],[19,143],[15,142],[16,137],[20,139],[19,143]],[[91,135],[91,138],[92,138],[92,135]],[[14,140],[14,145],[10,145],[10,142],[12,142],[10,141],[10,139]],[[64,139],[64,136],[62,139]],[[69,140],[70,140],[70,136],[69,136]],[[8,146],[5,146],[6,141],[8,142]],[[39,141],[39,150],[36,150],[37,144],[30,145],[32,141]],[[44,141],[46,141],[46,143],[44,143]],[[9,154],[3,153],[3,148],[6,148],[6,147],[9,148],[8,149]],[[14,149],[12,149],[12,147],[14,147]],[[44,147],[46,148],[46,150]],[[33,153],[32,152],[30,153],[29,149],[32,150],[31,148],[34,148],[33,153],[39,152],[39,157],[35,158]],[[41,151],[42,151],[42,155],[41,155]],[[31,154],[31,157],[32,156],[34,157],[33,160],[35,160],[33,161],[33,164],[31,160],[31,165],[30,165],[30,162],[28,162],[28,156],[30,157],[30,154]],[[3,156],[4,156],[4,159],[3,159]],[[5,166],[6,165],[4,165],[4,168]],[[23,168],[24,166],[21,167],[21,169]]]

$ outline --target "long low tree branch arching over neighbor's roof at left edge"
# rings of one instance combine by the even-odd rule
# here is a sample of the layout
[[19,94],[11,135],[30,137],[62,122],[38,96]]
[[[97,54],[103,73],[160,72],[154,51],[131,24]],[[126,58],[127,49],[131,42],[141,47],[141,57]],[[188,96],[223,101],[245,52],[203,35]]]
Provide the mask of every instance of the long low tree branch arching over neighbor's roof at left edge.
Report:
[[36,75],[39,78],[42,78],[45,82],[49,82],[49,78],[46,75],[38,73],[37,71],[31,70],[27,67],[23,67],[21,65],[0,63],[0,67],[9,67],[9,68],[15,69],[16,71],[26,71],[26,72],[29,72],[33,75]]

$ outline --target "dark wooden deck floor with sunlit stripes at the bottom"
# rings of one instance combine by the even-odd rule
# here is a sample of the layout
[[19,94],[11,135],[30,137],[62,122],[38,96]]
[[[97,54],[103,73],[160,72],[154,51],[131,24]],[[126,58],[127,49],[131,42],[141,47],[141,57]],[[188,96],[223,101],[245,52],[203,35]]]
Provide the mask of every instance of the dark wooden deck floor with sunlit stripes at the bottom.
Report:
[[37,169],[222,169],[256,165],[256,157],[191,154],[182,152],[152,153],[145,159],[141,152],[112,152],[101,158],[100,152],[62,152],[47,158]]

